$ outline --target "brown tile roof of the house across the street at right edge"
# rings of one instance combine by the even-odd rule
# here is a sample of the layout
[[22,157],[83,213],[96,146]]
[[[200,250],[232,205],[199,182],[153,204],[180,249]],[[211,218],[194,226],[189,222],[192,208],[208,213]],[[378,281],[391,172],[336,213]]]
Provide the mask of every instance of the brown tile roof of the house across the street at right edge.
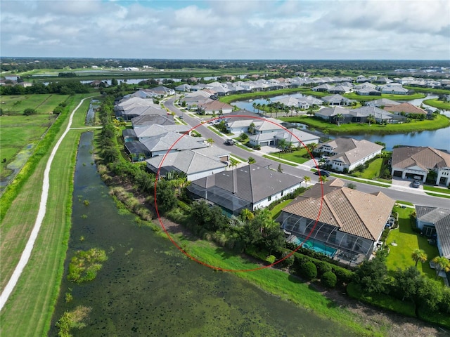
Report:
[[419,166],[425,171],[450,167],[450,154],[432,147],[401,146],[392,149],[392,167]]

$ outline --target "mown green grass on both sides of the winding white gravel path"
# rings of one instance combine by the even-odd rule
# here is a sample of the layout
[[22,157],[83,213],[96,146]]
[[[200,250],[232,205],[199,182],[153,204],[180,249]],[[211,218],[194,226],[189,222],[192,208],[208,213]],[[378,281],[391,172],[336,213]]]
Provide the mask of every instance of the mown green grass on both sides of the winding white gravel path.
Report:
[[[70,105],[70,112],[82,97],[77,95]],[[85,114],[86,110],[80,107],[75,116],[84,120]],[[63,133],[67,124],[68,119],[56,139]],[[68,245],[72,176],[81,132],[73,130],[68,133],[53,161],[47,213],[30,261],[1,312],[2,336],[42,336],[49,329]],[[2,289],[11,277],[36,220],[42,177],[49,154],[45,154],[39,161],[32,176],[27,179],[2,219],[0,226]]]

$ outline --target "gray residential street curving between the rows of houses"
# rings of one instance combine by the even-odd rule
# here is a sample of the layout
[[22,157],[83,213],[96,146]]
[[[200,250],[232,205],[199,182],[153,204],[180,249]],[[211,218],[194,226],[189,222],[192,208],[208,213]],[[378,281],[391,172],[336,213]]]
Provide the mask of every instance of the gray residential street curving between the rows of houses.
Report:
[[[262,157],[262,152],[254,151],[248,152],[246,150],[241,149],[238,146],[227,146],[224,145],[224,141],[226,138],[221,138],[216,133],[211,131],[207,126],[200,125],[200,119],[193,118],[189,114],[181,112],[177,107],[174,106],[174,101],[176,98],[169,98],[169,100],[165,101],[165,106],[172,112],[175,112],[176,116],[183,116],[183,120],[186,121],[190,126],[196,127],[195,131],[201,133],[203,138],[212,138],[214,140],[214,146],[223,147],[229,149],[232,154],[235,154],[237,157],[248,159],[248,157],[253,157],[256,159],[256,162],[259,166],[269,166],[271,169],[278,168],[278,161],[274,161],[271,159],[267,159]],[[288,164],[281,164],[284,173],[289,173],[293,176],[297,176],[303,178],[304,176],[309,176],[311,178],[310,184],[318,183],[318,176],[314,175],[313,172],[309,171],[305,166],[290,166]],[[397,185],[392,185],[391,187],[379,187],[375,185],[368,185],[365,183],[357,183],[353,180],[347,180],[348,183],[354,183],[356,185],[356,190],[366,193],[373,192],[383,192],[388,197],[391,197],[394,200],[401,201],[409,201],[413,204],[419,204],[423,206],[435,206],[448,208],[449,207],[449,199],[441,198],[441,197],[432,197],[430,195],[425,194],[423,191],[419,191],[413,189],[411,187],[402,187]]]

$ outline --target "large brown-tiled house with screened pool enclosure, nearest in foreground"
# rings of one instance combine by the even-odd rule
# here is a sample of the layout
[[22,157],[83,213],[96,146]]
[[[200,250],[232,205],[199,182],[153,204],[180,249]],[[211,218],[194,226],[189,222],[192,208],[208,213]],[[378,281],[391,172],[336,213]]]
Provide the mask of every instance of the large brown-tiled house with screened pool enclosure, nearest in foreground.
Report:
[[343,186],[340,179],[314,185],[286,206],[277,221],[290,234],[288,240],[357,264],[377,249],[395,201],[382,192]]

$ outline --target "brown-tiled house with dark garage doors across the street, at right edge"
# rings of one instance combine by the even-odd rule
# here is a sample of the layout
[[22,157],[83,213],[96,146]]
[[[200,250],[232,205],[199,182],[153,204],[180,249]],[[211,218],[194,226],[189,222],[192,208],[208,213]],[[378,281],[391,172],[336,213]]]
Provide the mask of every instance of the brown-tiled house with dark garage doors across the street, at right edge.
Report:
[[[392,149],[392,176],[427,180],[430,171],[436,174],[436,185],[450,184],[450,153],[432,147],[401,146]],[[434,178],[433,178],[434,180]]]

